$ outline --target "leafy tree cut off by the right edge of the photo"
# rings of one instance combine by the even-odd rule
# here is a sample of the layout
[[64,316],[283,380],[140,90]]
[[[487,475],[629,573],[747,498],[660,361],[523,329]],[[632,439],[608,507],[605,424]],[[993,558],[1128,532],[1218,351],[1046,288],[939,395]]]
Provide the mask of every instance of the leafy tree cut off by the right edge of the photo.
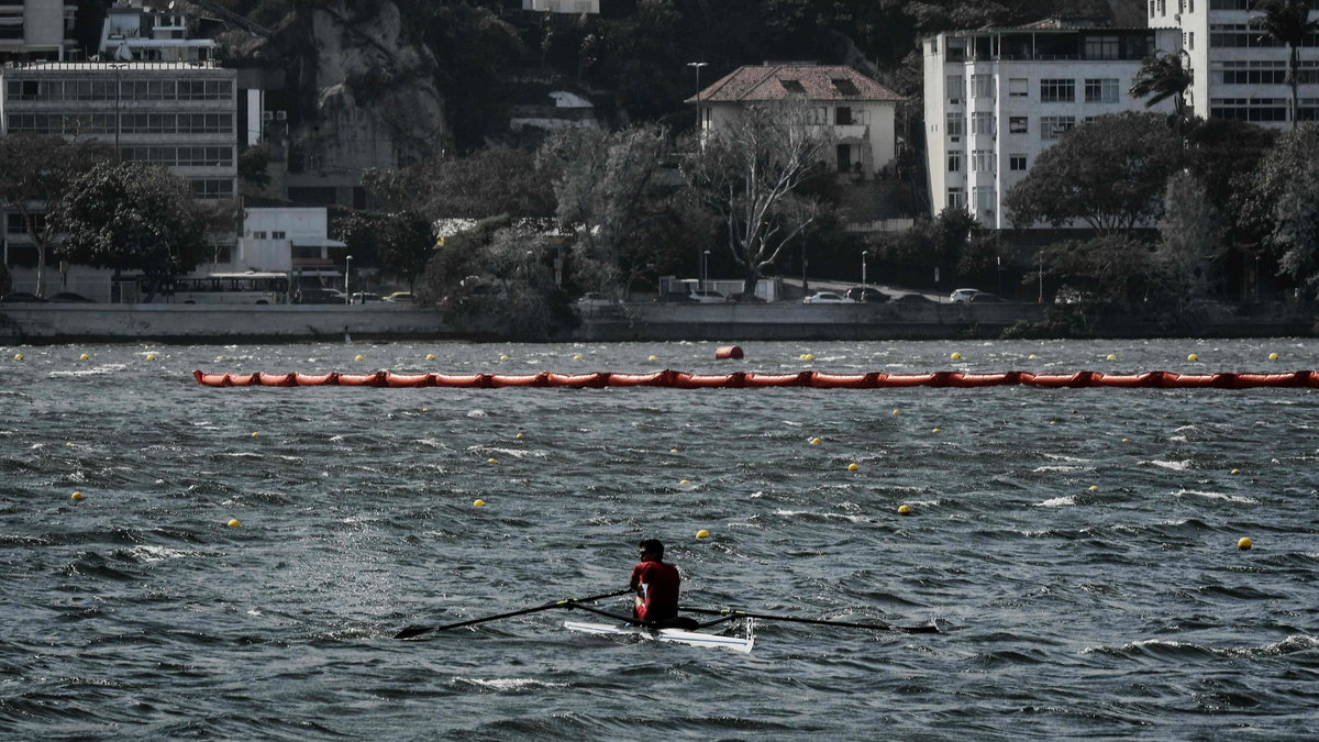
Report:
[[1242,219],[1278,256],[1279,271],[1319,285],[1319,123],[1306,121],[1278,139],[1242,198]]

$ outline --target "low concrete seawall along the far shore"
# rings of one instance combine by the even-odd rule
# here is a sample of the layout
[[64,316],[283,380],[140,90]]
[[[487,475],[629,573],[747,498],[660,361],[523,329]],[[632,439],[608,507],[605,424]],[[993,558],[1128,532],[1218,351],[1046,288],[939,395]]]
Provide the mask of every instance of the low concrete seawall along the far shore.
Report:
[[[584,309],[561,341],[882,341],[998,338],[1018,321],[1045,320],[1035,304],[628,304]],[[1089,337],[1310,335],[1314,313],[1265,305],[1257,314],[1221,309],[1177,329],[1113,313]],[[0,305],[0,343],[464,339],[443,314],[390,304],[365,306],[198,306],[111,304]],[[485,335],[488,338],[488,335]]]

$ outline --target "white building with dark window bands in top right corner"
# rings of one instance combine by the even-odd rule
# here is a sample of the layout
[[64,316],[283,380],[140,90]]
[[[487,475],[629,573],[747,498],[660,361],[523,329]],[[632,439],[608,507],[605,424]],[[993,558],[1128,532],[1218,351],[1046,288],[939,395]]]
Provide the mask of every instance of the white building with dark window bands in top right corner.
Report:
[[[1182,36],[1194,82],[1187,106],[1200,118],[1290,128],[1287,48],[1250,25],[1252,0],[1149,0],[1150,28]],[[1311,20],[1319,9],[1310,11]],[[1319,119],[1319,37],[1301,50],[1299,120]],[[1307,58],[1308,57],[1308,58]]]

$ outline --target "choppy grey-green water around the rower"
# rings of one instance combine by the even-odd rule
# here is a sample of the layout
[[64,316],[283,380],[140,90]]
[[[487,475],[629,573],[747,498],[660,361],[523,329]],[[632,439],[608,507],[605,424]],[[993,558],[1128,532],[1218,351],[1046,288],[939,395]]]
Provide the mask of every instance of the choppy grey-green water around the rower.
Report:
[[[1319,368],[1298,339],[744,349],[0,349],[0,735],[1312,738],[1314,389],[190,376]],[[646,536],[687,605],[944,632],[760,623],[744,656],[567,635],[586,617],[550,611],[390,639],[621,588]]]

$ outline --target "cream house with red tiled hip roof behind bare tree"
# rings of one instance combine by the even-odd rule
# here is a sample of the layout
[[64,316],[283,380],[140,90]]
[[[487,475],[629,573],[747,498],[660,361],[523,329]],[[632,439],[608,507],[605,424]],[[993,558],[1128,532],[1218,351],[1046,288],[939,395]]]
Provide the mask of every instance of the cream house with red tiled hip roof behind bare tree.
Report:
[[902,96],[845,66],[785,63],[739,67],[689,98],[703,131],[716,129],[748,106],[801,98],[819,125],[834,128],[834,165],[873,177],[897,156],[894,115]]

